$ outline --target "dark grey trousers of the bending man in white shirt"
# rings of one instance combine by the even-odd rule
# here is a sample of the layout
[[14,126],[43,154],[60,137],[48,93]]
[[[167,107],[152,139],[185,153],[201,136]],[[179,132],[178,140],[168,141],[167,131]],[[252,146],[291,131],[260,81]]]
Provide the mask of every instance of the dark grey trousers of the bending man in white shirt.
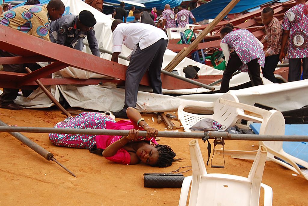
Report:
[[160,70],[163,63],[168,40],[160,39],[151,46],[140,49],[137,44],[136,52],[131,56],[125,77],[125,100],[123,111],[128,107],[136,107],[138,87],[145,72],[149,71],[153,92],[162,94]]

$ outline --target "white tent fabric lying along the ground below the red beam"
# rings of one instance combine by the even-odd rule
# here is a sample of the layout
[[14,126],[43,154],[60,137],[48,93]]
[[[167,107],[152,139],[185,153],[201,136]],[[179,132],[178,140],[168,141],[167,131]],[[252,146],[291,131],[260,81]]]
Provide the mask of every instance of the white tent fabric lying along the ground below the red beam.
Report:
[[[81,107],[100,111],[117,111],[124,106],[124,89],[102,88],[97,85],[74,86],[62,85],[51,87],[52,93],[59,100],[59,92],[72,107]],[[1,91],[0,91],[1,92]],[[253,105],[254,103],[274,107],[279,111],[298,109],[308,105],[306,95],[308,93],[308,79],[282,84],[268,84],[231,90],[240,102]],[[194,94],[172,97],[148,92],[138,92],[136,109],[142,112],[176,111],[184,101],[201,101],[208,107],[222,95]],[[28,98],[18,97],[16,103],[30,108],[50,107],[52,103],[40,89],[35,90]]]

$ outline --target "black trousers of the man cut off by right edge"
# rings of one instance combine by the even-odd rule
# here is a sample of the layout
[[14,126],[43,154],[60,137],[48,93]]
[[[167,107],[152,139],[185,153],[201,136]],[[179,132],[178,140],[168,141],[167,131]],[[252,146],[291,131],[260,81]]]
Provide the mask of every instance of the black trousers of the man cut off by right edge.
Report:
[[303,60],[303,79],[308,79],[308,57],[289,59],[288,82],[301,80],[301,61]]

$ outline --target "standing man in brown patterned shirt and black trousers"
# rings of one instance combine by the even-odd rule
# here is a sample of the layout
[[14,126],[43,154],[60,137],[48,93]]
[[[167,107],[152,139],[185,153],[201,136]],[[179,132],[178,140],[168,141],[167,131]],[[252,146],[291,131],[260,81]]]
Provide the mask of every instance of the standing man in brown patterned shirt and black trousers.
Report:
[[262,23],[265,25],[266,36],[261,41],[263,44],[267,42],[268,46],[265,50],[265,64],[262,68],[263,77],[271,82],[277,83],[274,71],[279,62],[279,53],[282,40],[282,28],[278,19],[273,16],[274,10],[271,7],[265,7],[261,13]]

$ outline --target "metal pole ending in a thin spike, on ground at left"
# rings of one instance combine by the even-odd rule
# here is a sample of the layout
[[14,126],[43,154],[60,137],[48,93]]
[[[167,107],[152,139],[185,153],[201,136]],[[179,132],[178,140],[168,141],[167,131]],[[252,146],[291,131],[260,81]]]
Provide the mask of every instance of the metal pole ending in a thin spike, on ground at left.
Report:
[[[2,122],[0,120],[0,128],[13,128],[13,127],[9,127],[7,124],[5,124],[4,122]],[[74,177],[76,177],[76,175],[74,173],[72,173],[70,170],[68,170],[65,166],[63,166],[61,163],[59,163],[55,158],[54,155],[52,153],[50,153],[49,151],[47,151],[46,149],[44,149],[43,147],[41,147],[40,145],[36,144],[34,141],[30,140],[29,138],[27,138],[26,136],[16,132],[16,131],[11,131],[8,132],[10,133],[10,135],[12,135],[13,137],[15,137],[16,139],[18,139],[19,141],[21,141],[22,143],[24,143],[25,145],[27,145],[28,147],[30,147],[31,149],[33,149],[35,152],[39,153],[43,158],[49,160],[49,161],[54,161],[56,162],[58,165],[60,165],[64,170],[66,170],[67,172],[69,172],[71,175],[73,175]]]

